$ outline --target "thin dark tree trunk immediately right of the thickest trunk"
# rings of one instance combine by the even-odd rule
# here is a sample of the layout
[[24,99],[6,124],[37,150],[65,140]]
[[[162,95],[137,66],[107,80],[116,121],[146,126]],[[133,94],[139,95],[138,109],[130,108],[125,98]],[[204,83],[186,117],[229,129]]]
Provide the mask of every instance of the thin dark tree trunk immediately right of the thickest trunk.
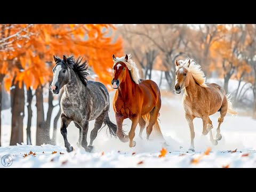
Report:
[[29,87],[27,90],[27,108],[28,108],[28,124],[27,124],[27,145],[32,145],[31,143],[31,120],[33,116],[33,111],[31,108],[31,103],[32,103],[33,95],[32,95],[32,90]]

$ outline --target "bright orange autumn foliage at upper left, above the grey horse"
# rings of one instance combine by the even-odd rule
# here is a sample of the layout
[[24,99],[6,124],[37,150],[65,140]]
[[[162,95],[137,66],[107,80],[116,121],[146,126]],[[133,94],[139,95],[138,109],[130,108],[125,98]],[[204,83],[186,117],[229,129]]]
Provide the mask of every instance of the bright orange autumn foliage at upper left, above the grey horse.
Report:
[[14,83],[20,82],[21,86],[24,82],[34,89],[51,81],[52,56],[63,54],[84,56],[97,75],[95,80],[110,84],[111,55],[123,54],[122,39],[118,37],[113,42],[113,25],[6,24],[0,25],[1,29],[0,73],[5,75],[6,90],[14,77]]

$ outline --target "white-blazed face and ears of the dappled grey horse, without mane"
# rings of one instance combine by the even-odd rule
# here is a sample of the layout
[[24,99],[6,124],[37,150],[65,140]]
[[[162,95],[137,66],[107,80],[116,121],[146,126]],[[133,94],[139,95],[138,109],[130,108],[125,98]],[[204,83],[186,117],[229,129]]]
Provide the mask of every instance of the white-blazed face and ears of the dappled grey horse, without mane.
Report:
[[63,60],[57,58],[53,55],[55,61],[55,67],[53,71],[53,81],[50,86],[50,90],[53,94],[58,94],[63,85],[66,85],[70,79],[70,68],[68,67],[68,61],[65,55],[63,55]]

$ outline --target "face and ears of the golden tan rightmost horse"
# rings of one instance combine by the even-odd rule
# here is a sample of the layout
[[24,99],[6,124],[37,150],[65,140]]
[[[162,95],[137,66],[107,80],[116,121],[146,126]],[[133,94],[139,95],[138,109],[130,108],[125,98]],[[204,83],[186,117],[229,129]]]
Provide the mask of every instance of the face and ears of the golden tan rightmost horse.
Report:
[[[181,66],[179,61],[176,60],[175,62],[176,65],[176,71],[175,71],[175,85],[174,85],[174,90],[175,93],[180,93],[181,90],[185,87],[188,86],[189,84],[189,78],[188,77],[188,69],[186,69],[184,66]],[[190,60],[188,61],[187,68],[190,66]]]

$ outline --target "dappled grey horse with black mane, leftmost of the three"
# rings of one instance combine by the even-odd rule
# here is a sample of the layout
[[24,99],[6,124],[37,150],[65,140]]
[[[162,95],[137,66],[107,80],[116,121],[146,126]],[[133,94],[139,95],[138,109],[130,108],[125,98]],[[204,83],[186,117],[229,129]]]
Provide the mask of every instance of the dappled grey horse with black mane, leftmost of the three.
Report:
[[[67,140],[67,127],[71,121],[79,129],[78,147],[82,146],[86,151],[92,150],[92,142],[97,137],[102,123],[107,124],[109,132],[116,136],[116,125],[109,120],[109,93],[105,85],[100,82],[88,81],[87,61],[74,59],[73,56],[63,60],[53,55],[56,63],[53,68],[53,81],[50,86],[52,93],[63,93],[60,101],[61,128],[67,151],[73,151]],[[90,135],[90,145],[87,146],[87,132],[89,121],[95,119],[94,129]]]

